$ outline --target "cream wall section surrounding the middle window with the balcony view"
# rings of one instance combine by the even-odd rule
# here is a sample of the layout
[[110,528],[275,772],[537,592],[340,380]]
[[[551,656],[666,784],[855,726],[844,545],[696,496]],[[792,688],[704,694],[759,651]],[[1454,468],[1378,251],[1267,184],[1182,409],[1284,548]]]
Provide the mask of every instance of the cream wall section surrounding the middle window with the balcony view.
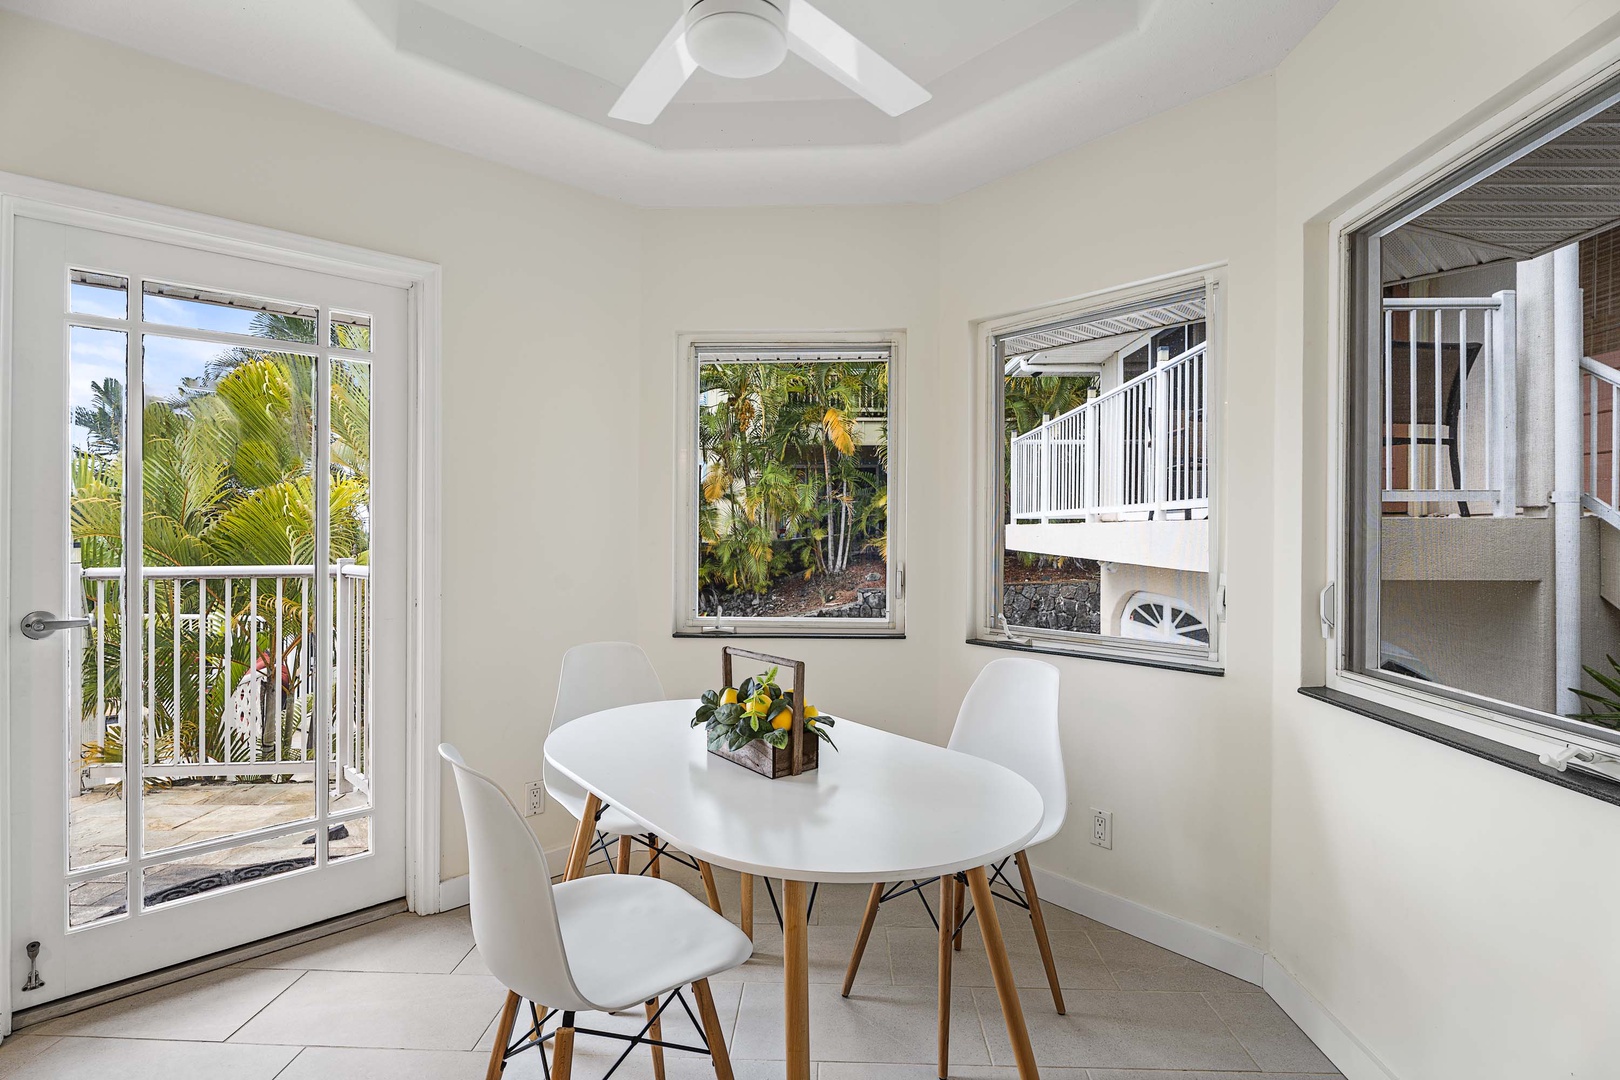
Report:
[[[953,476],[974,473],[969,405],[975,319],[1228,262],[1225,432],[1230,572],[1226,675],[1063,659],[1071,816],[1115,813],[1113,850],[1066,829],[1035,861],[1223,934],[1262,944],[1267,923],[1267,717],[1272,486],[1272,79],[1155,117],[943,207],[941,424]],[[1166,149],[1187,162],[1166,170]],[[941,691],[959,699],[998,653],[962,644],[970,620],[967,484],[936,492],[949,513],[943,563],[953,640]],[[1260,510],[1256,513],[1256,510]]]

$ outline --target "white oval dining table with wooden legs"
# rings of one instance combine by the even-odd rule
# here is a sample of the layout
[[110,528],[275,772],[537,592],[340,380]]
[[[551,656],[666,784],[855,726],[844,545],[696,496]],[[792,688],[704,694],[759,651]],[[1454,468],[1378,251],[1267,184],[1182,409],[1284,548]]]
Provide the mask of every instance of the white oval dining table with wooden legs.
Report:
[[[546,761],[588,792],[567,878],[577,878],[614,806],[661,844],[713,866],[782,882],[782,1014],[787,1080],[810,1080],[810,887],[823,882],[940,881],[940,1075],[949,1052],[951,952],[959,925],[943,915],[966,884],[990,960],[1021,1080],[1035,1080],[1013,967],[985,868],[1035,836],[1035,787],[1000,764],[847,717],[838,751],[820,748],[816,769],[770,779],[711,755],[692,727],[697,699],[648,701],[583,716],[546,740]],[[1016,722],[1016,717],[1008,717]],[[747,895],[747,892],[745,892]],[[745,926],[745,929],[752,929]]]

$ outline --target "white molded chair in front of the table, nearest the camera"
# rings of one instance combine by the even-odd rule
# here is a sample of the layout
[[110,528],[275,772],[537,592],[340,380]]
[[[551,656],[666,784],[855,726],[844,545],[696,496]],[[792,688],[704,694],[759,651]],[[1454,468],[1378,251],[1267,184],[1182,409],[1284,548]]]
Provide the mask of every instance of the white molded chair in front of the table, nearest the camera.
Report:
[[[467,818],[473,941],[489,973],[507,988],[488,1080],[497,1080],[514,1054],[548,1041],[551,1078],[569,1080],[577,1031],[629,1043],[614,1069],[637,1046],[650,1044],[659,1080],[664,1048],[708,1052],[718,1080],[732,1080],[708,976],[753,954],[742,931],[680,886],[656,878],[599,874],[552,886],[546,853],[505,792],[468,767],[455,746],[441,743],[439,756],[455,769]],[[688,983],[701,1017],[703,1046],[666,1043],[663,1036],[661,1015],[671,1002],[679,1001],[692,1015],[680,991]],[[523,999],[530,1002],[533,1025],[512,1043]],[[575,1027],[577,1012],[632,1006],[646,1007],[646,1025],[638,1035]],[[557,1014],[561,1020],[548,1033],[546,1022]]]

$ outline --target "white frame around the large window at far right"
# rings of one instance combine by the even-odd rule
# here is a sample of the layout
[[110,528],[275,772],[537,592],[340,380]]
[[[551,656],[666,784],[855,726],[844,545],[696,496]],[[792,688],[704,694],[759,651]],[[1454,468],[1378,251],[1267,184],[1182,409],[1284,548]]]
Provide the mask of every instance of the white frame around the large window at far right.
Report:
[[[1346,460],[1349,450],[1346,413],[1348,400],[1345,387],[1351,369],[1348,329],[1351,314],[1349,288],[1354,285],[1349,280],[1351,235],[1380,215],[1390,212],[1424,188],[1437,185],[1447,175],[1466,167],[1469,162],[1489,155],[1503,144],[1545,123],[1560,108],[1573,105],[1586,94],[1597,91],[1602,84],[1615,78],[1620,78],[1620,40],[1605,42],[1586,57],[1567,63],[1544,84],[1528,91],[1520,100],[1474,125],[1464,134],[1442,144],[1411,168],[1406,168],[1400,175],[1379,185],[1375,189],[1351,202],[1327,223],[1330,251],[1324,283],[1324,288],[1327,290],[1327,303],[1324,306],[1327,311],[1327,327],[1320,342],[1327,350],[1327,405],[1332,424],[1328,431],[1328,445],[1325,447],[1328,494],[1325,505],[1322,507],[1325,528],[1325,542],[1322,547],[1324,560],[1319,563],[1322,578],[1320,585],[1314,581],[1306,583],[1304,593],[1309,596],[1312,589],[1325,585],[1343,588],[1333,589],[1333,633],[1322,641],[1324,653],[1319,654],[1324,657],[1322,682],[1333,690],[1340,690],[1356,698],[1413,712],[1424,719],[1473,732],[1510,746],[1529,750],[1533,753],[1554,750],[1565,743],[1612,753],[1614,743],[1596,737],[1583,737],[1578,732],[1541,725],[1534,721],[1511,716],[1508,712],[1498,712],[1490,709],[1484,701],[1468,703],[1442,698],[1418,687],[1400,687],[1395,682],[1372,678],[1366,674],[1341,667],[1341,631],[1345,627],[1345,609],[1349,602],[1349,586],[1343,581],[1343,578],[1348,525],[1345,521],[1348,492]],[[1304,340],[1306,355],[1311,353],[1315,342],[1317,338],[1307,335]],[[1304,431],[1301,449],[1307,452],[1307,457],[1309,444],[1311,434],[1309,431]],[[1311,555],[1306,552],[1306,567],[1309,568],[1309,565]],[[1301,667],[1301,677],[1304,683],[1317,682],[1315,675],[1306,664]]]

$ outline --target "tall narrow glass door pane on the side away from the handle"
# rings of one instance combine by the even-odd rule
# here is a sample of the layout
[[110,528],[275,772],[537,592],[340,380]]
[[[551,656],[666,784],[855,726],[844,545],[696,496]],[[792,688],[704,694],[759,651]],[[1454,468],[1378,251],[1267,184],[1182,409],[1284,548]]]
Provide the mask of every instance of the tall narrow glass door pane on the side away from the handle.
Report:
[[330,452],[330,810],[337,813],[371,801],[371,364],[364,361],[332,361]]

